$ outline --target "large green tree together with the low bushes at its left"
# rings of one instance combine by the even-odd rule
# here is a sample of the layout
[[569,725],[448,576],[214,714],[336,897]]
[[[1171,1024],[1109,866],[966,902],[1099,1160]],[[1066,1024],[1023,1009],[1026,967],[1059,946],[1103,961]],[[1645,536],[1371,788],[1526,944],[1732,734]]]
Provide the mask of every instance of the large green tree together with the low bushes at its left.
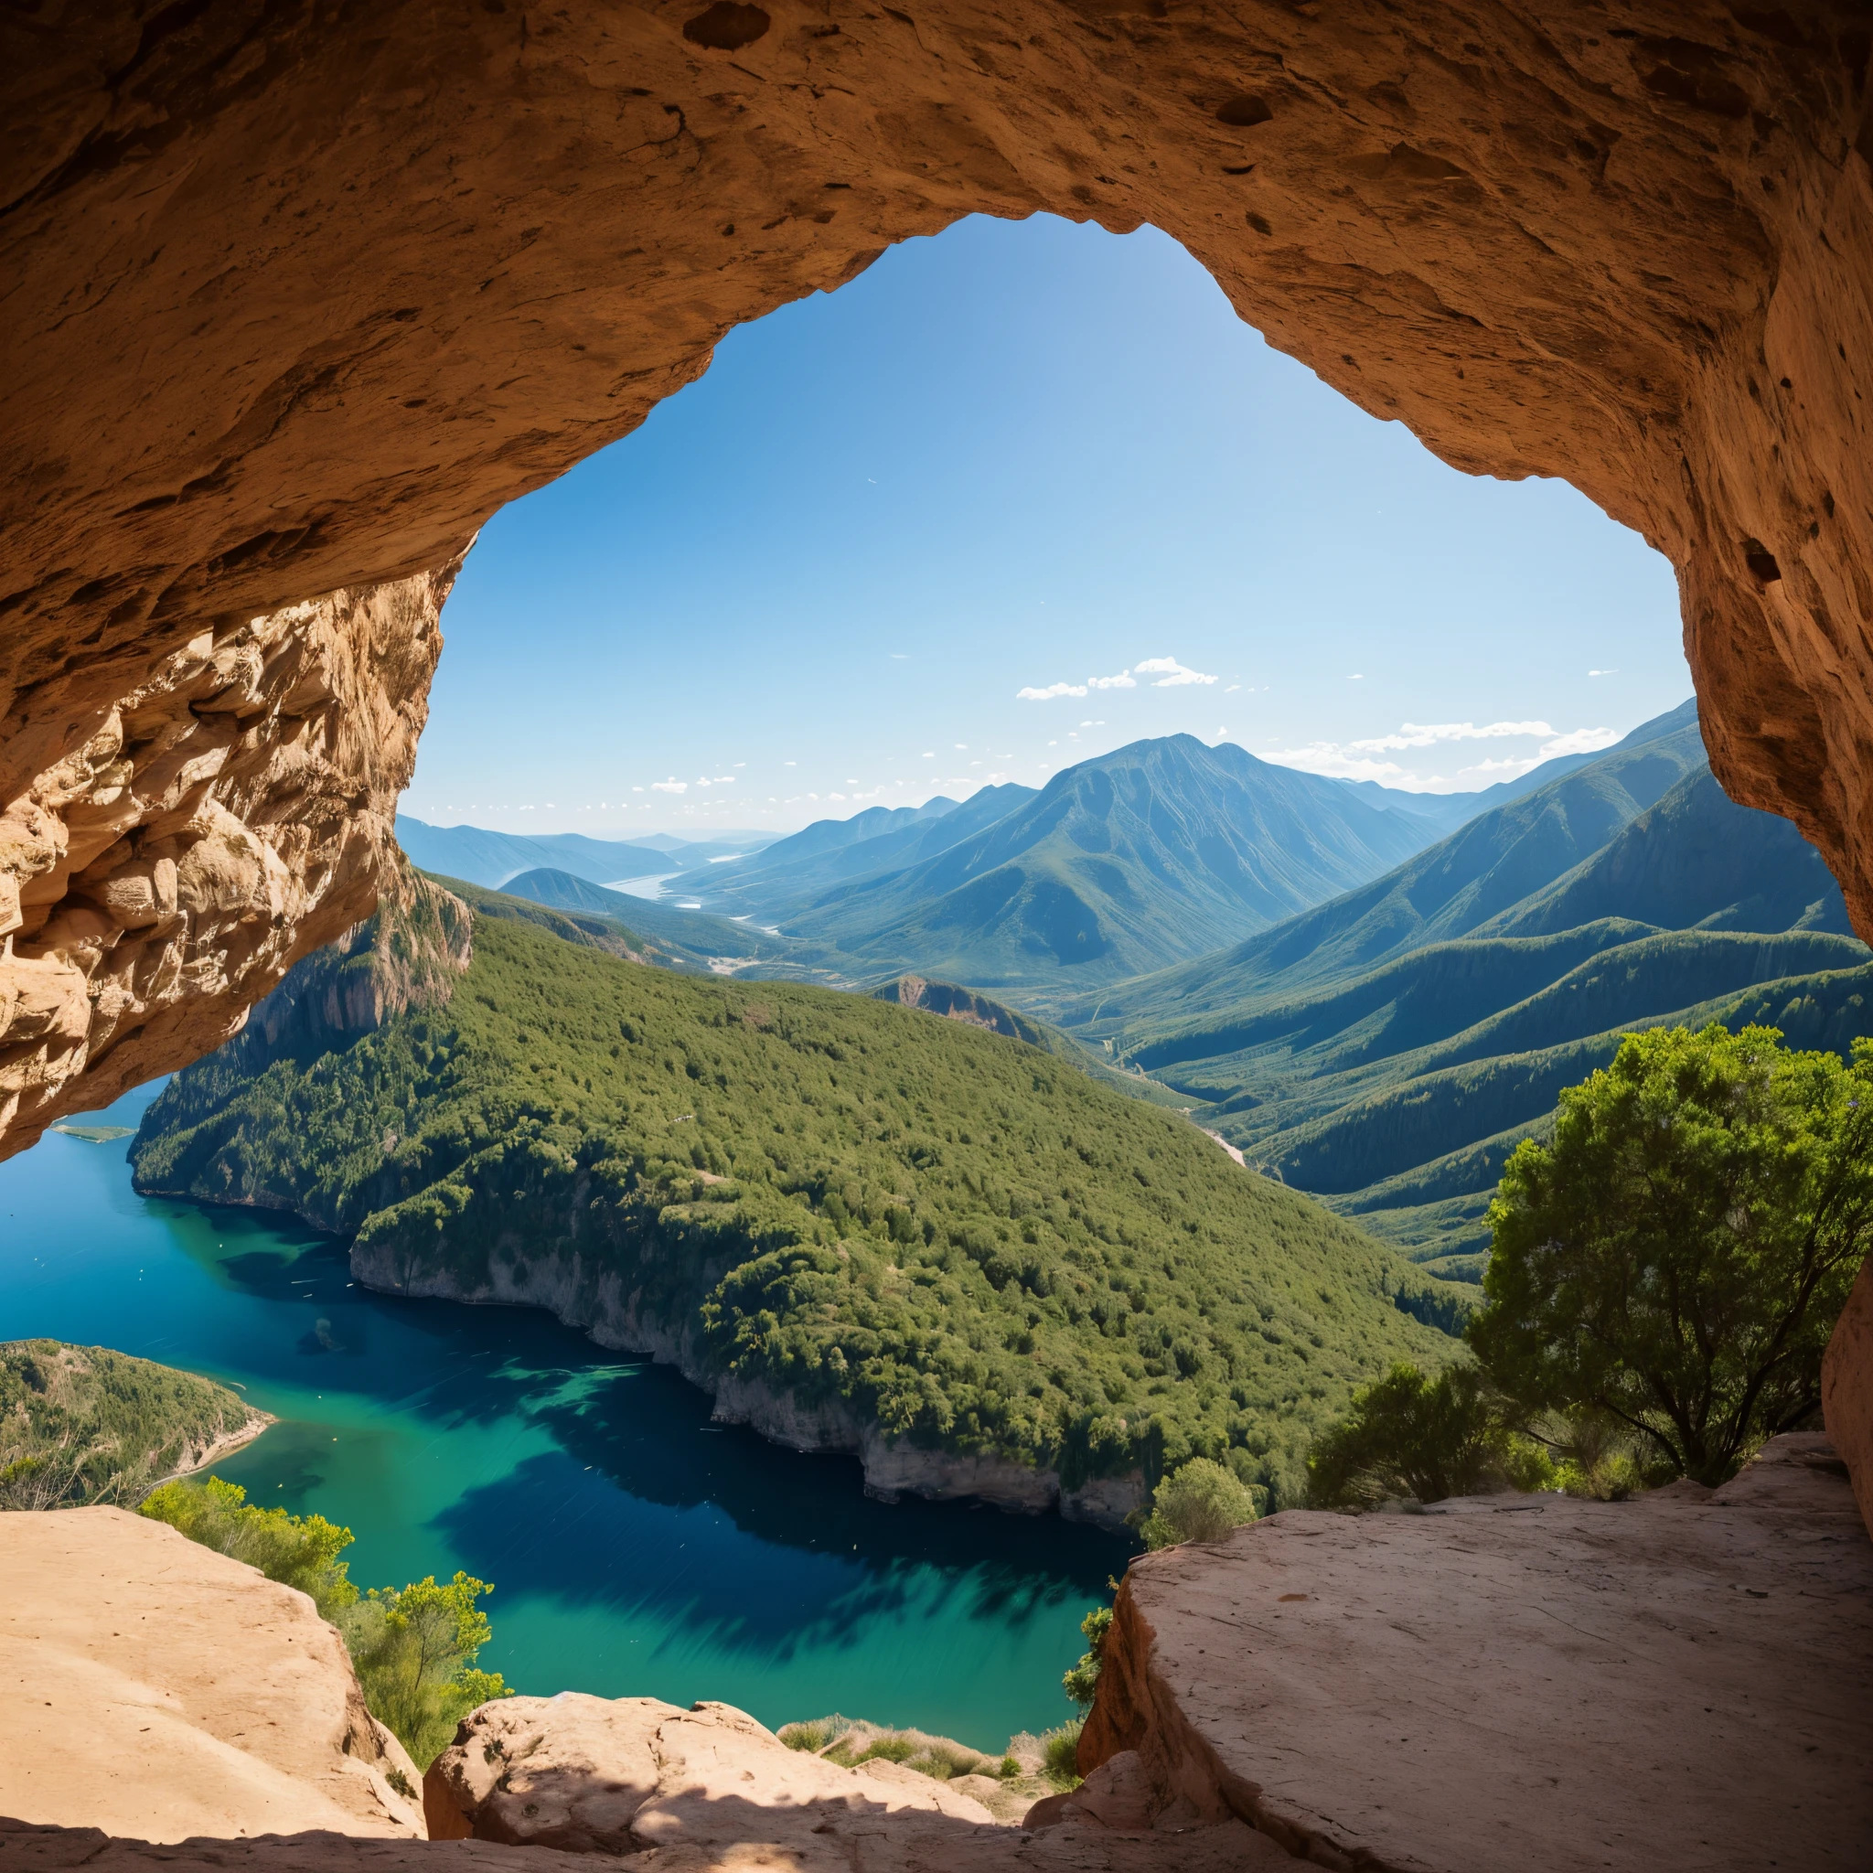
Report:
[[1873,1043],[1654,1028],[1560,1096],[1489,1206],[1476,1365],[1399,1364],[1307,1459],[1319,1508],[1716,1487],[1821,1407],[1873,1249]]

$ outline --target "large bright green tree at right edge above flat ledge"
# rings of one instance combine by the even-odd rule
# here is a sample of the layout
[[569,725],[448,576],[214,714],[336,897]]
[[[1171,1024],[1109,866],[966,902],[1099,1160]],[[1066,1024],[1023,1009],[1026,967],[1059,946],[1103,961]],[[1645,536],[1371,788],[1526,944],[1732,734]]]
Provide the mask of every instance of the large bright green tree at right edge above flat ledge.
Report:
[[1721,1483],[1821,1403],[1873,1247],[1873,1045],[1654,1028],[1560,1096],[1489,1208],[1470,1345],[1526,1412],[1601,1410],[1658,1476]]

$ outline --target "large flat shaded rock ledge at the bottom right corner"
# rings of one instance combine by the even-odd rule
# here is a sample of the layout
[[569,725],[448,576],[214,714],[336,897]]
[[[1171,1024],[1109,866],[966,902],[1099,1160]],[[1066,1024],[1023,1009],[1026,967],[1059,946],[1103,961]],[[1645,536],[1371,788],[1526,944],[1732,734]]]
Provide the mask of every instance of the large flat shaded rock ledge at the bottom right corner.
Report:
[[1845,1467],[1781,1437],[1716,1493],[1287,1510],[1146,1555],[1079,1751],[1118,1766],[1088,1806],[1236,1815],[1328,1867],[1854,1866],[1869,1680]]

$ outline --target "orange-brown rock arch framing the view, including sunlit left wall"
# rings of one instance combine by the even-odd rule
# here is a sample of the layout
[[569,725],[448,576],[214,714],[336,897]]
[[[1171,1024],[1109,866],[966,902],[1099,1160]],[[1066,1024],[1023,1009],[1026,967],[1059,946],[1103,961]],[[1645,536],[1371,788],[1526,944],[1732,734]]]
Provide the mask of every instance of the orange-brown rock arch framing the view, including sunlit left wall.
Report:
[[1154,221],[1446,461],[1639,528],[1718,774],[1873,935],[1869,43],[1858,0],[11,9],[6,1144],[365,914],[487,513],[972,212]]

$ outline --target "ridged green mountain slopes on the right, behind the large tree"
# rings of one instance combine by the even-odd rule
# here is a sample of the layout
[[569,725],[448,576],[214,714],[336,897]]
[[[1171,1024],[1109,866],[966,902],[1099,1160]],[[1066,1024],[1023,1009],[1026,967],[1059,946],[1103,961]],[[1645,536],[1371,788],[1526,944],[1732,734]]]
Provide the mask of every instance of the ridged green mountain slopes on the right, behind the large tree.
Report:
[[1624,1034],[1766,1021],[1845,1053],[1873,1032],[1867,950],[1794,826],[1731,802],[1703,759],[1631,811],[1688,732],[1639,730],[1364,892],[1118,985],[1068,1032],[1191,1099],[1249,1163],[1474,1277],[1504,1159]]

